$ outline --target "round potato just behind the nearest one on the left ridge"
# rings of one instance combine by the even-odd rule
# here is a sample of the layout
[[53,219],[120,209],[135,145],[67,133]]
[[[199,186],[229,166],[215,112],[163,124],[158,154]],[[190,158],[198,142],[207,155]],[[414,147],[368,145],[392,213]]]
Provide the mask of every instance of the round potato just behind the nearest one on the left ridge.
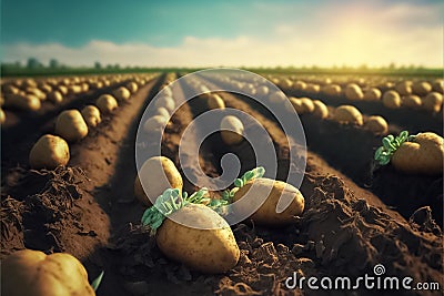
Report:
[[75,142],[87,136],[88,125],[79,110],[65,110],[57,118],[56,133],[68,142]]

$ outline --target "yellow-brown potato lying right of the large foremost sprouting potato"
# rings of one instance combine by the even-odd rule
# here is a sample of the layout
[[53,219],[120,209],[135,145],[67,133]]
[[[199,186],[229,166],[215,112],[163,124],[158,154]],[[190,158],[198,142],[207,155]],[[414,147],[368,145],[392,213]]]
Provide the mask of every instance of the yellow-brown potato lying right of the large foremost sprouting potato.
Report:
[[[261,205],[264,194],[270,190],[271,192]],[[234,202],[242,198],[249,200],[233,204],[234,211],[240,215],[246,215],[252,208],[260,206],[249,218],[262,225],[291,224],[295,221],[294,217],[301,215],[304,211],[304,197],[296,187],[282,181],[265,177],[246,182],[234,194]],[[280,200],[282,201],[278,207]],[[283,208],[285,205],[289,206]]]

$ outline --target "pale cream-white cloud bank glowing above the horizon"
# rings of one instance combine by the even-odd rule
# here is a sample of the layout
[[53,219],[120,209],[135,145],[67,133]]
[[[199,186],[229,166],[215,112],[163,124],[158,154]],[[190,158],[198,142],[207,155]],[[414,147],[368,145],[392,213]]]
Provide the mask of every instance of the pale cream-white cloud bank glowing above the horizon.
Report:
[[[326,13],[326,11],[329,13]],[[327,7],[305,22],[282,21],[273,37],[239,35],[231,39],[184,37],[178,47],[144,43],[117,44],[92,40],[80,48],[62,44],[6,44],[3,61],[36,57],[56,58],[72,65],[103,64],[145,67],[274,67],[274,65],[443,65],[443,28],[434,6],[393,4]],[[427,21],[428,20],[428,21]],[[423,21],[424,24],[412,24]],[[406,23],[411,25],[406,27]]]

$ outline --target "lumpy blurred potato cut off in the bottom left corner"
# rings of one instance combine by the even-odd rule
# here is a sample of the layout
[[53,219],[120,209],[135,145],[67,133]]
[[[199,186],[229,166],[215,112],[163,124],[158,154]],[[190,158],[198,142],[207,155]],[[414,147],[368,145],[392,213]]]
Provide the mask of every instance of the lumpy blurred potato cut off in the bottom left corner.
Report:
[[1,295],[93,296],[83,265],[68,253],[22,249],[1,263]]

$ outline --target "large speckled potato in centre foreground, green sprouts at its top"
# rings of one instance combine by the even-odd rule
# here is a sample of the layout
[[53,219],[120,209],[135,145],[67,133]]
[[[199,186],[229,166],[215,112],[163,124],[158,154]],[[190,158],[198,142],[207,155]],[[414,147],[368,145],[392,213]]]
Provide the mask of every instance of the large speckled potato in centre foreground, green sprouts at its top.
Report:
[[157,233],[158,246],[165,256],[209,274],[225,273],[238,264],[240,249],[230,225],[213,210],[189,204],[170,217]]

